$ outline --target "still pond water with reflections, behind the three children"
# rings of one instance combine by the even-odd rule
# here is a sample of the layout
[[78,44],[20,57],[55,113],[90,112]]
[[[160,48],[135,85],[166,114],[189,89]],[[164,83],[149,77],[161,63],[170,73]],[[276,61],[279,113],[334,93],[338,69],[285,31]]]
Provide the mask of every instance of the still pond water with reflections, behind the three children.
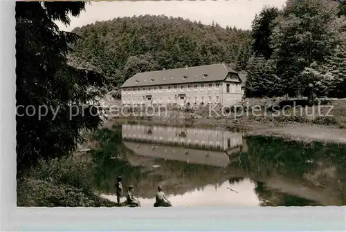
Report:
[[[158,185],[173,206],[346,204],[346,147],[244,136],[217,128],[122,124],[95,134],[91,151],[103,197],[134,185],[152,207]],[[122,198],[125,201],[125,197]]]

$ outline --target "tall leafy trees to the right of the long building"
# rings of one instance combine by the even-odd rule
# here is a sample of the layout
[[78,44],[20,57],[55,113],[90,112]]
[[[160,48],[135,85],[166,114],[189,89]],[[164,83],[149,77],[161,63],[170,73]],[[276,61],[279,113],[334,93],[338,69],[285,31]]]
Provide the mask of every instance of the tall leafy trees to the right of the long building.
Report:
[[249,97],[346,97],[345,1],[289,0],[255,17]]

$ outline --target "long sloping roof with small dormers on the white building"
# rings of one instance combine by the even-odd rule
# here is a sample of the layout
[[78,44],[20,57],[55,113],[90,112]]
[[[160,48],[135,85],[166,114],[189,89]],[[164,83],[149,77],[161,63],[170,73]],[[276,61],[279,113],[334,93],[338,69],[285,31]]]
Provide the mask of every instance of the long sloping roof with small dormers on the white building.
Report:
[[223,81],[229,72],[237,73],[225,64],[210,64],[206,66],[176,68],[153,72],[139,72],[133,77],[127,79],[120,88]]

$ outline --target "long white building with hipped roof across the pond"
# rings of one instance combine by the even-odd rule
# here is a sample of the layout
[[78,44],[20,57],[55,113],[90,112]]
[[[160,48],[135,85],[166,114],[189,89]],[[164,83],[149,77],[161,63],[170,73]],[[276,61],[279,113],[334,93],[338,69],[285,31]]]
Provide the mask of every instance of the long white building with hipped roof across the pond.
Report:
[[225,64],[140,72],[121,88],[123,105],[190,105],[242,102],[242,79]]

